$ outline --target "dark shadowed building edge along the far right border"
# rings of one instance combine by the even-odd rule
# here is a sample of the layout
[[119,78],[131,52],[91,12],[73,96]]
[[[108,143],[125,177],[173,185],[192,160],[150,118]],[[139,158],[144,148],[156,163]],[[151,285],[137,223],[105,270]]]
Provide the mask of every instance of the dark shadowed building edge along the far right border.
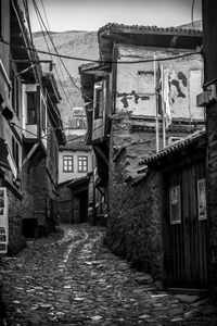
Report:
[[[205,51],[205,83],[215,80],[217,76],[217,21],[214,14],[217,10],[217,2],[212,0],[203,1],[203,28],[204,28],[204,51]],[[214,82],[216,84],[216,80]],[[217,103],[209,103],[206,110],[207,140],[208,140],[208,208],[210,226],[210,291],[217,300]]]

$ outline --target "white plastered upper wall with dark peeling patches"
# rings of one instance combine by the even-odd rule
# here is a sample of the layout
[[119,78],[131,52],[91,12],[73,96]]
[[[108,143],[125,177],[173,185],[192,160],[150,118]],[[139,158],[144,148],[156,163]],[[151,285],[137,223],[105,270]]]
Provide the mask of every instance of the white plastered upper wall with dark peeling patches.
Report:
[[[182,52],[183,53],[183,52]],[[182,54],[171,50],[118,46],[119,61],[153,60]],[[199,54],[164,61],[171,80],[171,117],[204,118],[204,109],[196,108],[196,95],[202,92],[203,62]],[[117,64],[116,111],[133,115],[155,115],[154,63]]]

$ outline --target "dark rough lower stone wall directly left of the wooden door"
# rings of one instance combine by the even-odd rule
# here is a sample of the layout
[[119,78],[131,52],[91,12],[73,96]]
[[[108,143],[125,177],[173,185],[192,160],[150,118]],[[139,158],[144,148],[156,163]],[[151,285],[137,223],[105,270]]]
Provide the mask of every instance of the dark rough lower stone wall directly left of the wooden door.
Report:
[[110,186],[108,246],[155,279],[162,279],[162,177],[151,173],[136,186],[115,181],[122,162],[116,165]]

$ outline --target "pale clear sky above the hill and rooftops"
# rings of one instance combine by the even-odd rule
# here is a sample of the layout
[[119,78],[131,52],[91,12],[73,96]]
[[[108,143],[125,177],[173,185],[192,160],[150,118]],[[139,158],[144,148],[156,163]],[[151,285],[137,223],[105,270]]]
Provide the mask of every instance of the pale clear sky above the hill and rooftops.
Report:
[[[28,0],[33,32],[40,30],[34,0]],[[191,22],[193,0],[35,0],[52,32],[97,32],[107,23],[179,26]],[[201,20],[201,1],[194,0],[194,21]],[[42,7],[43,5],[43,7]]]

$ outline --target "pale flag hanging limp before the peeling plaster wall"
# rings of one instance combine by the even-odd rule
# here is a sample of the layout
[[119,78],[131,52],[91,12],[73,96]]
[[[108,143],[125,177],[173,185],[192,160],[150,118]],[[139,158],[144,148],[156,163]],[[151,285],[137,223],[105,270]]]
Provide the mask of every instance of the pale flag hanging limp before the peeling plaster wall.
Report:
[[164,70],[164,113],[165,113],[165,126],[171,124],[171,97],[170,97],[170,87],[169,87],[169,70]]

